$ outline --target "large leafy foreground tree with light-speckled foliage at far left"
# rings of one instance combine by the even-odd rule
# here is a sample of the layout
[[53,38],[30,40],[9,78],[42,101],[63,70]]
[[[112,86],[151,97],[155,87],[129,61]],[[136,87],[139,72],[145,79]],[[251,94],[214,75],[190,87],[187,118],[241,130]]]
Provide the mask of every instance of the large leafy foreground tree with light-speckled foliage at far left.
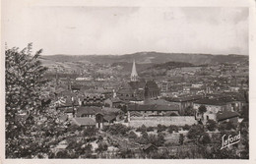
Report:
[[47,156],[50,146],[63,140],[61,134],[66,131],[65,124],[58,122],[60,113],[50,107],[53,102],[41,103],[42,97],[49,96],[44,78],[47,69],[38,60],[41,52],[32,55],[32,44],[22,51],[5,51],[7,158]]

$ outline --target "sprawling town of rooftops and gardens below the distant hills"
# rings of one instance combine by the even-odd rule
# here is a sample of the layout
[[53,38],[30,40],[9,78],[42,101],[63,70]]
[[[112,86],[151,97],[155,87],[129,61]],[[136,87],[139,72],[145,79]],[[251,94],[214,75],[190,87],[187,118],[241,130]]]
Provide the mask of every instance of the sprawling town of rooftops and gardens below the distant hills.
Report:
[[[142,71],[129,62],[128,73],[119,64],[49,68],[41,113],[55,119],[45,126],[39,115],[31,136],[49,152],[32,158],[248,158],[248,61]],[[238,133],[221,149],[224,135]]]

